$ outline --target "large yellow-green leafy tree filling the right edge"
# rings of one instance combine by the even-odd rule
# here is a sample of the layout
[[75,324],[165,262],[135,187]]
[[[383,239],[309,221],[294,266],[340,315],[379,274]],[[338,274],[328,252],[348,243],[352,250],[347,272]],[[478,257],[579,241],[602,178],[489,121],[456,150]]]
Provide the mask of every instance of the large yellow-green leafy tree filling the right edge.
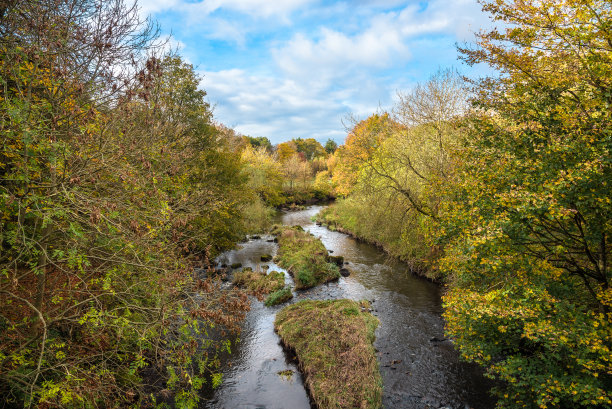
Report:
[[612,404],[612,4],[485,1],[462,48],[470,138],[443,210],[447,331],[504,381],[500,407]]

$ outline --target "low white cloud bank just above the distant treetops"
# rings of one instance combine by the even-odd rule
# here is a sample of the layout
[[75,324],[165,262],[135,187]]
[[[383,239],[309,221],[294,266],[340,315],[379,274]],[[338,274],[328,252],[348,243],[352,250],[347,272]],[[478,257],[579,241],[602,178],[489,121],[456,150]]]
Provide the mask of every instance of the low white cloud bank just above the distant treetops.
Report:
[[[296,137],[342,142],[342,117],[361,108],[351,102],[354,90],[314,90],[291,79],[237,69],[201,74],[218,120],[248,135],[267,136],[273,143]],[[376,109],[375,104],[369,108]]]

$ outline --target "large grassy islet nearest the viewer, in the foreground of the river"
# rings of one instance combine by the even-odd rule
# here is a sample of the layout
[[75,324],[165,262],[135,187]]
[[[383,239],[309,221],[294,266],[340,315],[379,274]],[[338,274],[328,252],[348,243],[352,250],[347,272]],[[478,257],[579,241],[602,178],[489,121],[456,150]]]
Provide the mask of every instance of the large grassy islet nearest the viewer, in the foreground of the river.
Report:
[[372,343],[378,319],[367,302],[306,300],[283,308],[274,328],[295,351],[319,409],[376,409],[382,378]]

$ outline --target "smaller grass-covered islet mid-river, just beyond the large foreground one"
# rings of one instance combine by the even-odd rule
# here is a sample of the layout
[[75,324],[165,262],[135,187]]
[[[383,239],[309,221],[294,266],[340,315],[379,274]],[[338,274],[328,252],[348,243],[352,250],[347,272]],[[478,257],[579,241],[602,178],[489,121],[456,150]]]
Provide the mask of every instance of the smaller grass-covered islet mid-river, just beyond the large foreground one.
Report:
[[277,263],[293,275],[297,290],[340,278],[338,266],[327,261],[327,249],[321,240],[291,227],[277,234]]

